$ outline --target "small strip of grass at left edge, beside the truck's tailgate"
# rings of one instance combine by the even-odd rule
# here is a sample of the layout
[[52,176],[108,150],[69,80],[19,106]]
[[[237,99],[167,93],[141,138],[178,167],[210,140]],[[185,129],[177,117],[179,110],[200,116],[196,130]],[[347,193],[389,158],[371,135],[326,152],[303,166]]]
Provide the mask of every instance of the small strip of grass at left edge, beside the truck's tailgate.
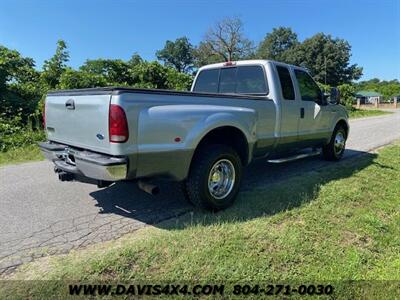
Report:
[[30,145],[15,148],[7,152],[0,152],[0,166],[43,159],[44,157],[37,145]]

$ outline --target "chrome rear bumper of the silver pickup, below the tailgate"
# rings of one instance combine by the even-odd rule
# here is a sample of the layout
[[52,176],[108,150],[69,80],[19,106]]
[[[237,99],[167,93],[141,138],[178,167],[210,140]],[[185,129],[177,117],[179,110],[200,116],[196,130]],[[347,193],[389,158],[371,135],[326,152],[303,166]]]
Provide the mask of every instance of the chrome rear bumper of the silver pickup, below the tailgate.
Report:
[[59,170],[104,181],[126,179],[128,160],[53,142],[39,143],[44,156]]

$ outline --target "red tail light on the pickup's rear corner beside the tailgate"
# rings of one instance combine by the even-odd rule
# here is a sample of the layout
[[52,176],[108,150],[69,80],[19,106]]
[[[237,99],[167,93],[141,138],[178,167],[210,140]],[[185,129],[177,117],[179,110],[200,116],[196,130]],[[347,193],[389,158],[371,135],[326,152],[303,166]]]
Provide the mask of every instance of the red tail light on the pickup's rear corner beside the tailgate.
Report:
[[129,138],[128,121],[121,106],[110,105],[108,115],[108,136],[110,142],[124,143]]

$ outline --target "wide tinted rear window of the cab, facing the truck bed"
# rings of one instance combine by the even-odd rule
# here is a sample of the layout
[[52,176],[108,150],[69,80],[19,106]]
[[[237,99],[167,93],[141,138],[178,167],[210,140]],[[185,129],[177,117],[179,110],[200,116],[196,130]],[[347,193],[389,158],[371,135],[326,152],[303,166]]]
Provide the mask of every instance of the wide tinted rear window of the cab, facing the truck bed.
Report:
[[262,66],[237,66],[201,71],[193,91],[261,96],[268,86]]

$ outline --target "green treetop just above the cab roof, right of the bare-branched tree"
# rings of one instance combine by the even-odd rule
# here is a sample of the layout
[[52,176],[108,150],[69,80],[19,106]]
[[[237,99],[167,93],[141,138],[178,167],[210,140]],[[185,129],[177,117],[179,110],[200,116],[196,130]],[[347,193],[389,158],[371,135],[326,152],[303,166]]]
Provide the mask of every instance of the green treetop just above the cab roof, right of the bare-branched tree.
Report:
[[273,28],[259,44],[257,57],[284,62],[287,60],[285,55],[287,51],[298,44],[297,34],[291,28]]

